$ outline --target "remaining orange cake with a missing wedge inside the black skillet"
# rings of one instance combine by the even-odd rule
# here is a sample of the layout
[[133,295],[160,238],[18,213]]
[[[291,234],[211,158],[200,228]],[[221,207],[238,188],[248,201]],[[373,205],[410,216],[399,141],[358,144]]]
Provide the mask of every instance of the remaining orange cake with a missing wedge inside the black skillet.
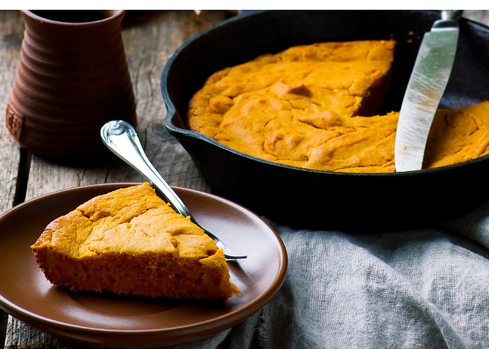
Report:
[[[191,99],[188,127],[284,165],[395,172],[399,113],[371,117],[388,87],[394,48],[393,40],[302,45],[220,70]],[[487,154],[487,108],[439,110],[423,168]]]

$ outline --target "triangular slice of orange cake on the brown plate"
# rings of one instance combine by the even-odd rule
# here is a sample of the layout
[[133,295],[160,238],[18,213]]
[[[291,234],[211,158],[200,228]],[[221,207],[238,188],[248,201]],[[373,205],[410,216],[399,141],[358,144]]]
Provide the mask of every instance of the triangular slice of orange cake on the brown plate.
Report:
[[145,183],[97,196],[52,221],[31,246],[54,285],[118,295],[225,299],[224,252]]

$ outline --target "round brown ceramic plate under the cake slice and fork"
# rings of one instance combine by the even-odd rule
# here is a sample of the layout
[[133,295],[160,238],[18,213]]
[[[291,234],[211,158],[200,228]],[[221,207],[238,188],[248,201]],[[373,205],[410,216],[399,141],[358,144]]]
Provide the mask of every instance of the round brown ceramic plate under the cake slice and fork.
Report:
[[44,332],[91,346],[152,348],[186,343],[237,325],[284,282],[282,240],[260,217],[215,195],[175,188],[197,221],[235,251],[230,264],[242,295],[226,301],[169,301],[92,293],[51,285],[29,246],[50,221],[93,198],[135,184],[71,188],[24,202],[0,217],[0,307]]

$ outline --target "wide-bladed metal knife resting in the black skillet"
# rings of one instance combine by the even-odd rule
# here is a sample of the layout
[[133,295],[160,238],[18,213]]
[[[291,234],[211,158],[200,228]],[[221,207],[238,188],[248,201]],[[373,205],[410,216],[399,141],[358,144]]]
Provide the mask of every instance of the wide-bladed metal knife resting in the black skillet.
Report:
[[442,10],[423,36],[397,122],[396,172],[421,170],[426,141],[451,75],[462,10]]

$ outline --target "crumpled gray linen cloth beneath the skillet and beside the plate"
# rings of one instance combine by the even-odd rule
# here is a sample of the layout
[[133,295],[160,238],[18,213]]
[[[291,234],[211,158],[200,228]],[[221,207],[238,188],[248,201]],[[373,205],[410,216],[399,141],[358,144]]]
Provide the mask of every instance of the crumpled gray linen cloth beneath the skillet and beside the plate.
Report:
[[489,202],[439,228],[293,230],[277,295],[242,324],[175,348],[489,348]]

